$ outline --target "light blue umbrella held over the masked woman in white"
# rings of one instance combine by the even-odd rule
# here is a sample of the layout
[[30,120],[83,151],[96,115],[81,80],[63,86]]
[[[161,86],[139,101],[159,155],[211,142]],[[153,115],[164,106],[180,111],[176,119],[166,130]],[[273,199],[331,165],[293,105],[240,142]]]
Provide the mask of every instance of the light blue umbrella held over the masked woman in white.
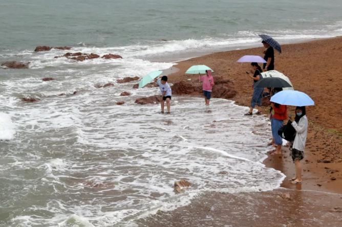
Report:
[[288,106],[313,106],[315,102],[304,92],[282,90],[271,98],[271,102]]

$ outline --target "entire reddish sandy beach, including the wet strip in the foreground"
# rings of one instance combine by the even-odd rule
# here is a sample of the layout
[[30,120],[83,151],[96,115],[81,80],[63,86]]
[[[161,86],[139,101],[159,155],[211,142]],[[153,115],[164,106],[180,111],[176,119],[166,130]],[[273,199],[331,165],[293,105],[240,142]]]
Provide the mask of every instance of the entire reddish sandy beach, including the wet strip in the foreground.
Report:
[[[287,176],[281,185],[283,189],[277,189],[273,192],[257,193],[257,195],[251,196],[255,199],[255,204],[260,202],[263,206],[267,206],[268,209],[273,209],[278,214],[284,211],[282,216],[285,216],[281,218],[278,217],[279,215],[276,215],[277,218],[274,220],[276,224],[272,226],[280,226],[282,224],[286,226],[319,226],[322,223],[298,222],[294,219],[298,219],[298,217],[302,217],[303,219],[310,218],[310,215],[304,212],[307,208],[298,213],[298,207],[303,206],[303,200],[298,200],[298,196],[310,203],[307,205],[311,206],[310,211],[314,210],[313,217],[315,215],[321,216],[320,212],[325,214],[330,211],[341,212],[342,122],[340,119],[342,117],[342,102],[340,97],[342,97],[342,89],[340,87],[342,86],[342,78],[340,71],[342,65],[342,37],[285,44],[282,45],[282,50],[282,54],[275,54],[275,70],[287,75],[296,90],[307,93],[315,101],[315,106],[307,108],[309,130],[305,157],[302,160],[303,184],[292,185],[290,183],[289,178],[294,174],[294,164],[288,148],[284,148],[283,155],[269,156],[264,161],[267,167],[280,170]],[[235,50],[213,53],[181,61],[175,65],[179,71],[171,74],[169,81],[171,83],[183,81],[189,84],[189,86],[197,86],[198,75],[185,75],[184,73],[191,65],[205,64],[215,71],[213,74],[214,78],[222,77],[232,82],[231,89],[236,90],[237,94],[231,100],[236,101],[239,105],[248,106],[250,104],[252,88],[251,81],[245,75],[245,71],[250,69],[250,65],[249,63],[241,64],[236,61],[243,55],[263,56],[262,51],[262,48]],[[293,110],[293,107],[288,109],[289,113]],[[267,117],[268,111],[269,106],[264,106],[263,113],[265,117]],[[237,115],[243,115],[243,113],[237,113]],[[267,142],[265,141],[265,147]],[[318,193],[319,197],[324,196],[325,199],[316,200],[317,195],[313,195],[313,192]],[[263,198],[263,195],[270,200]],[[191,203],[191,205],[185,208],[167,214],[159,213],[141,223],[142,225],[157,226],[158,223],[167,220],[170,225],[174,226],[186,225],[186,223],[191,223],[192,225],[196,223],[197,226],[235,225],[242,220],[241,217],[231,219],[231,217],[239,216],[234,213],[237,211],[237,208],[234,208],[234,206],[239,207],[235,203],[240,204],[240,206],[247,206],[246,203],[248,203],[247,201],[237,199],[238,197],[233,194],[209,193],[201,197],[204,202],[203,200],[200,202],[201,199],[199,199],[199,201],[194,201],[194,203]],[[234,202],[231,202],[232,200]],[[218,202],[222,201],[226,201],[230,208],[227,208],[224,212],[222,210],[215,210],[214,208]],[[279,202],[281,204],[277,204]],[[281,211],[277,211],[279,206],[282,206]],[[255,205],[255,207],[258,206]],[[252,210],[251,213],[256,216],[252,219],[247,218],[249,221],[245,220],[244,222],[240,222],[242,223],[241,226],[257,226],[252,224],[255,221],[260,221],[258,222],[258,226],[269,223],[269,220],[273,218],[273,214],[269,214],[261,207],[259,207],[260,209]],[[327,210],[324,211],[323,208],[327,208]],[[228,218],[229,215],[227,216],[228,213],[230,214],[230,218]],[[291,215],[293,216],[293,214],[295,214],[295,217],[289,217]],[[208,219],[208,215],[212,219]],[[193,218],[189,218],[189,216]],[[286,219],[285,217],[289,218]],[[215,222],[215,220],[221,220],[222,222]],[[336,219],[332,221],[332,219],[327,218],[324,223],[327,226],[336,226],[338,222],[335,221]]]

